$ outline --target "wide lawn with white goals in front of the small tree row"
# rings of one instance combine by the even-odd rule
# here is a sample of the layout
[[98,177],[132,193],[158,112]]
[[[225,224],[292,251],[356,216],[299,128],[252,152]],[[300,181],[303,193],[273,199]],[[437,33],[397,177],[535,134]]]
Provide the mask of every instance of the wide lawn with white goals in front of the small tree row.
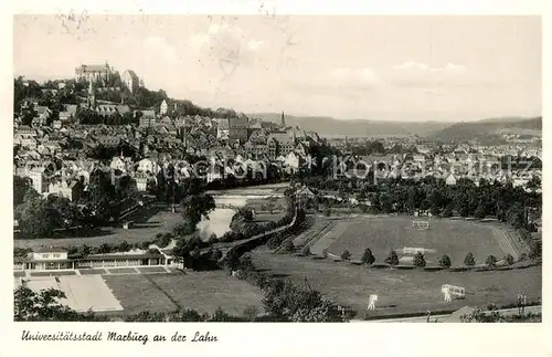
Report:
[[[253,252],[253,262],[265,269],[304,284],[307,277],[314,290],[332,300],[351,306],[364,317],[370,294],[379,301],[373,315],[393,315],[460,308],[466,305],[516,303],[517,294],[527,294],[528,301],[541,300],[541,266],[495,272],[425,272],[418,270],[367,270],[359,265],[335,263],[291,255]],[[445,303],[440,294],[443,284],[466,288],[466,298]]]

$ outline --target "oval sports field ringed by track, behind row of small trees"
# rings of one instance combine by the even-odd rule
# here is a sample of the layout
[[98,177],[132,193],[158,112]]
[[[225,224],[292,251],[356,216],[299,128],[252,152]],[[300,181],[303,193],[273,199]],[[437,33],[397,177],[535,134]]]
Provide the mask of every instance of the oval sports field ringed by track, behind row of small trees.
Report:
[[[437,265],[443,254],[448,254],[453,265],[463,265],[467,253],[473,253],[477,264],[484,264],[489,254],[498,260],[506,254],[517,258],[518,252],[505,232],[491,224],[476,221],[431,219],[427,230],[412,228],[413,218],[363,216],[339,221],[311,246],[315,254],[323,249],[340,256],[344,250],[351,260],[360,260],[370,248],[376,263],[383,263],[391,250],[400,259],[403,248],[422,248],[428,265]],[[407,256],[405,256],[407,259]]]

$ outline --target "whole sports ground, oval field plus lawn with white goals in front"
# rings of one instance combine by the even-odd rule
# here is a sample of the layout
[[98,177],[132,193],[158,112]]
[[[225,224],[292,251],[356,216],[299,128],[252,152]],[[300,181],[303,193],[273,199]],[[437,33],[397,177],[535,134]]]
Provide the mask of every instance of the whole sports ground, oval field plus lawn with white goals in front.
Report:
[[[506,254],[519,256],[523,246],[507,228],[497,222],[428,219],[427,230],[412,227],[412,217],[354,216],[349,218],[317,217],[311,228],[295,238],[296,245],[307,244],[315,256],[275,254],[266,246],[253,252],[256,267],[273,276],[290,279],[327,294],[330,298],[358,312],[357,318],[367,313],[368,297],[379,296],[373,316],[390,316],[426,311],[457,309],[466,305],[487,306],[514,304],[518,294],[528,301],[541,300],[541,266],[497,271],[425,271],[413,269],[412,261],[403,256],[403,248],[423,248],[427,266],[438,265],[443,254],[448,254],[453,266],[464,266],[467,253],[473,253],[477,264],[485,264],[489,254],[498,260]],[[422,219],[420,219],[422,220]],[[427,219],[426,219],[427,220]],[[372,267],[358,264],[364,249],[370,248],[375,263],[384,263],[395,250],[401,265],[410,269]],[[323,250],[328,259],[320,259]],[[348,250],[351,262],[339,256]],[[444,302],[440,287],[452,284],[465,287],[464,300]]]

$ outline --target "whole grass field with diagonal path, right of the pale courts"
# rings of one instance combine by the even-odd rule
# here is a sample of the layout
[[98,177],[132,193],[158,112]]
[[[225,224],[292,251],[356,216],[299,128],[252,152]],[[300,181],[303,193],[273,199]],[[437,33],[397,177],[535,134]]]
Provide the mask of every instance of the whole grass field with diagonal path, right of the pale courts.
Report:
[[126,314],[140,311],[168,312],[178,306],[210,314],[217,307],[235,315],[241,315],[248,306],[256,306],[262,311],[262,291],[222,271],[104,275],[104,279]]

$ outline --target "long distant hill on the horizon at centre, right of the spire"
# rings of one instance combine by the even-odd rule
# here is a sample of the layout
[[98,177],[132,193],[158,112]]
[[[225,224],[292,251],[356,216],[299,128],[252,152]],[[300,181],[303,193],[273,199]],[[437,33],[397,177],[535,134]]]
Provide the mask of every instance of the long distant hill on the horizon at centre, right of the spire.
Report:
[[[280,123],[282,119],[279,113],[254,113],[247,116],[274,123]],[[438,122],[339,120],[327,116],[285,115],[285,118],[287,125],[317,132],[322,137],[427,136],[450,125],[450,123]]]

